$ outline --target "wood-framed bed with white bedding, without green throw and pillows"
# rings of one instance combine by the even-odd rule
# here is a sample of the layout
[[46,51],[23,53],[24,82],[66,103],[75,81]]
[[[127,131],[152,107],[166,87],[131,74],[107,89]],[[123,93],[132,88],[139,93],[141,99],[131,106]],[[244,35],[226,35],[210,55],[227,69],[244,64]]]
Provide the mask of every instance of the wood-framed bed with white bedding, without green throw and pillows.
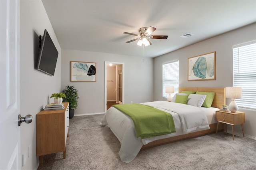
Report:
[[[110,109],[108,109],[102,118],[100,126],[104,127],[108,125],[120,141],[121,148],[119,156],[122,162],[131,162],[138,152],[143,149],[216,132],[217,122],[215,120],[215,111],[222,108],[222,105],[226,103],[225,88],[179,87],[179,93],[182,91],[215,92],[215,96],[210,108],[196,108],[194,106],[167,101],[141,103],[142,105],[150,105],[172,114],[176,132],[170,134],[150,138],[138,138],[136,136],[134,123],[130,117],[114,107],[110,107]],[[178,112],[175,109],[169,109],[169,107],[178,108],[179,106],[181,106],[182,109],[185,109],[186,112],[188,112],[188,110],[194,111],[193,116],[197,114],[194,117],[198,118],[198,120],[191,117],[191,115],[185,114],[185,116],[187,115],[187,118],[185,117],[186,120],[193,119],[193,121],[195,121],[188,123],[186,120],[184,121],[181,119],[180,113],[177,114]],[[218,130],[223,130],[223,127],[218,127]]]

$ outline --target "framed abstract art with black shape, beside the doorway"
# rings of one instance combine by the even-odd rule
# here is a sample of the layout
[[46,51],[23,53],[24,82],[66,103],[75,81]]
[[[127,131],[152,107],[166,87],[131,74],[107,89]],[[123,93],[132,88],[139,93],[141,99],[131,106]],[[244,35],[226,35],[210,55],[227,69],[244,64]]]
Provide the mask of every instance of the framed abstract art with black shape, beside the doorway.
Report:
[[70,81],[96,82],[96,63],[70,61]]

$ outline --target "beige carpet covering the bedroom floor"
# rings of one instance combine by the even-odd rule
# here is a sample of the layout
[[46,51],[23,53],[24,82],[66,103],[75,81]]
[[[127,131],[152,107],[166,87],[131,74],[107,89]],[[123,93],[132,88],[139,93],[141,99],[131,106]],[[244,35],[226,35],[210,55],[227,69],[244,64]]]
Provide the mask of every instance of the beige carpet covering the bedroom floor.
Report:
[[103,115],[70,119],[66,159],[62,152],[44,156],[38,170],[255,170],[256,140],[219,132],[139,152],[120,161],[120,142],[98,124]]

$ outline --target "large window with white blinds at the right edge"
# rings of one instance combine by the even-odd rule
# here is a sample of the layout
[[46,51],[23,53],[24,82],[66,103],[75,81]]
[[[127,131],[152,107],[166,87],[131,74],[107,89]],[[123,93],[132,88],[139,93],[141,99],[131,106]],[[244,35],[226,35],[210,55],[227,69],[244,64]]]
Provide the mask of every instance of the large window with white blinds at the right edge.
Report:
[[233,86],[242,87],[237,105],[256,109],[256,41],[233,47]]

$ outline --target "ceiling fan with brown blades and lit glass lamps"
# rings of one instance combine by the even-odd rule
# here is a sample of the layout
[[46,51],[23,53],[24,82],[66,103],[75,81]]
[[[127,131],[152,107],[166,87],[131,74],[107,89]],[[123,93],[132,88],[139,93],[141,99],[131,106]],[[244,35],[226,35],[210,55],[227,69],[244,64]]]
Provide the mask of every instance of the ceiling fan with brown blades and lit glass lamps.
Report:
[[138,36],[138,38],[130,40],[127,43],[139,40],[137,45],[140,45],[140,46],[142,44],[145,45],[145,46],[151,45],[151,42],[150,42],[149,38],[152,38],[152,39],[167,39],[168,38],[168,36],[151,36],[152,32],[154,32],[155,30],[156,30],[156,28],[150,26],[149,28],[146,28],[146,27],[140,28],[138,30],[140,35],[129,33],[129,32],[124,32],[124,34],[129,34],[129,35],[132,35],[132,36]]

